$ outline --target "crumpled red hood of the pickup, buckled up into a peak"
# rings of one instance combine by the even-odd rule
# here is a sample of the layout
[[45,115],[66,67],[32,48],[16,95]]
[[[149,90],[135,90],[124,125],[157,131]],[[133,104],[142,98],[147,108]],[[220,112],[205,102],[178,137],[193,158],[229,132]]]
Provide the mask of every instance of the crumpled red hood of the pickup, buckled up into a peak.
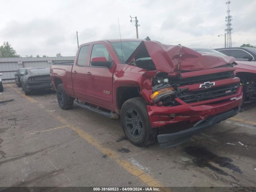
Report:
[[232,64],[234,57],[225,57],[200,54],[195,50],[184,46],[172,46],[161,44],[156,41],[142,41],[126,63],[135,58],[151,57],[156,70],[161,72],[192,71],[216,68],[226,64]]

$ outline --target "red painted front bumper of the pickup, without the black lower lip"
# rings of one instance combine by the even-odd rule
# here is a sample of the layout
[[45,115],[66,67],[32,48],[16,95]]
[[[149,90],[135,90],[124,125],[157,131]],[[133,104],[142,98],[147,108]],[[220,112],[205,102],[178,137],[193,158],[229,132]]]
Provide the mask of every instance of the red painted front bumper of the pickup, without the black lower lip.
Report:
[[[242,104],[242,86],[234,95],[207,100],[198,103],[182,103],[178,106],[147,106],[152,128],[176,124],[178,122],[194,123],[210,116],[240,107]],[[208,102],[208,103],[205,103]]]

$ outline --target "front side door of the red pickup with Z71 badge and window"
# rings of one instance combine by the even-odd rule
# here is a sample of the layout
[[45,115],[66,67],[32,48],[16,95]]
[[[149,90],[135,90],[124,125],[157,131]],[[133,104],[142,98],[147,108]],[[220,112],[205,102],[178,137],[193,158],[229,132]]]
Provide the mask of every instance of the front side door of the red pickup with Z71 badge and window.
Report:
[[90,56],[90,61],[95,57],[105,57],[112,62],[112,67],[92,66],[91,62],[87,68],[86,90],[88,101],[106,108],[113,106],[112,76],[114,72],[113,58],[105,44],[94,44]]

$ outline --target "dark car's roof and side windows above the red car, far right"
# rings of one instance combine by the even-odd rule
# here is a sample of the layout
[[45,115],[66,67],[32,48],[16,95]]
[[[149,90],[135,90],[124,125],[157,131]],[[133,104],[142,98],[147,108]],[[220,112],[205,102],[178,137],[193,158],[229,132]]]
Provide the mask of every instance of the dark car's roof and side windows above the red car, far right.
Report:
[[251,47],[230,47],[215,49],[227,56],[232,56],[237,60],[256,61],[256,48]]

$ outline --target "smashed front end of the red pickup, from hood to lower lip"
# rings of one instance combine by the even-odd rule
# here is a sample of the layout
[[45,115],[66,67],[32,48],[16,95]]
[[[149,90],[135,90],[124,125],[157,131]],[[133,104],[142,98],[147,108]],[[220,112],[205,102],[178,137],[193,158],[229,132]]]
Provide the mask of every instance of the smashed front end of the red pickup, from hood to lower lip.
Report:
[[138,46],[127,63],[146,70],[140,92],[148,102],[152,128],[192,124],[186,130],[158,135],[163,147],[184,142],[239,112],[242,87],[234,76],[234,61],[158,42],[143,41]]

